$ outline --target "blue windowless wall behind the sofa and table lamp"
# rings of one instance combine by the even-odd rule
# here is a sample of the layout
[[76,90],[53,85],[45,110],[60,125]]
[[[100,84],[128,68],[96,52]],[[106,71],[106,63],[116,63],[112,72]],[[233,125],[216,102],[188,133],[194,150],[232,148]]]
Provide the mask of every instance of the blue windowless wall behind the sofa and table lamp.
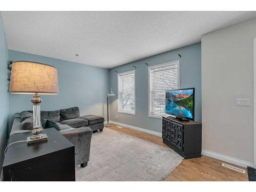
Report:
[[[109,70],[81,63],[9,50],[10,60],[46,63],[58,70],[58,95],[42,95],[41,110],[57,110],[78,106],[80,115],[106,114],[106,92]],[[9,124],[16,112],[32,110],[32,95],[9,94]]]

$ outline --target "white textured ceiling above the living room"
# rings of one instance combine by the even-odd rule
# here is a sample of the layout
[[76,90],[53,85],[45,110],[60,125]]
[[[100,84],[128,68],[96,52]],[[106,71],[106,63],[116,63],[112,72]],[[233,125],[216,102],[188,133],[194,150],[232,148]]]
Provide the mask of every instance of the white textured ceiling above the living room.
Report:
[[113,68],[194,44],[256,12],[3,11],[2,17],[8,49]]

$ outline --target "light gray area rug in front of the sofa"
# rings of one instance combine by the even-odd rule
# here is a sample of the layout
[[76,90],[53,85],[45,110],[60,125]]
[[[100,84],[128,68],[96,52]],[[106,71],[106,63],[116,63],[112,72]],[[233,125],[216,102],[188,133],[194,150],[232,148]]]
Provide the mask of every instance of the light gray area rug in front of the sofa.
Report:
[[87,167],[76,181],[161,181],[181,163],[171,150],[108,128],[94,133]]

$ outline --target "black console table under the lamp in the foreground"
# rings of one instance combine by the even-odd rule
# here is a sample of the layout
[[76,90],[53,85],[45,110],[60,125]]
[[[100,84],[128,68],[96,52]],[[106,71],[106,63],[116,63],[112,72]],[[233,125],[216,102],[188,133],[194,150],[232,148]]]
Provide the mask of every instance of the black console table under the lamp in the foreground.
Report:
[[[75,146],[54,128],[44,129],[48,141],[19,142],[7,149],[4,181],[75,181]],[[31,133],[10,136],[9,144],[26,140]]]

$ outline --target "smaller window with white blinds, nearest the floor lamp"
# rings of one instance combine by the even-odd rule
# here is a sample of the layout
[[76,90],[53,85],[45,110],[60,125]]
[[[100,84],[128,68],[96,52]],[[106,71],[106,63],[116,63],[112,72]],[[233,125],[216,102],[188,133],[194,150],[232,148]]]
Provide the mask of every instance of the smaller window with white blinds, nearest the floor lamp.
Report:
[[135,71],[118,74],[118,112],[136,114]]

